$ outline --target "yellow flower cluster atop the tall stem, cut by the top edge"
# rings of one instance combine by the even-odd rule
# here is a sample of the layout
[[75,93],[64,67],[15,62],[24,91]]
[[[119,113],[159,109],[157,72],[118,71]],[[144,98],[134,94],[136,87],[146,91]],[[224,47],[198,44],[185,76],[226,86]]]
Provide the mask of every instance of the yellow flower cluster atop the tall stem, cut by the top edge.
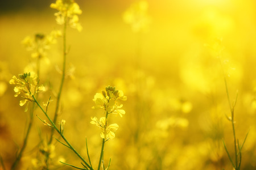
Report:
[[51,8],[58,10],[55,13],[57,24],[63,25],[67,23],[70,27],[82,30],[77,15],[82,14],[79,5],[73,0],[56,0],[56,3],[51,3]]

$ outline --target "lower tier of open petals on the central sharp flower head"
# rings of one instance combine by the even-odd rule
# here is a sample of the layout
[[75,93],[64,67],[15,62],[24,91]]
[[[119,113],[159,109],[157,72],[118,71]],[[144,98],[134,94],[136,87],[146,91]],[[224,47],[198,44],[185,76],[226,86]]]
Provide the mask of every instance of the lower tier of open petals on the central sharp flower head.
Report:
[[119,128],[117,124],[111,124],[109,126],[106,126],[106,118],[101,117],[100,121],[97,117],[92,117],[92,121],[90,121],[91,124],[96,125],[101,128],[101,138],[103,139],[113,139],[115,137],[115,131]]

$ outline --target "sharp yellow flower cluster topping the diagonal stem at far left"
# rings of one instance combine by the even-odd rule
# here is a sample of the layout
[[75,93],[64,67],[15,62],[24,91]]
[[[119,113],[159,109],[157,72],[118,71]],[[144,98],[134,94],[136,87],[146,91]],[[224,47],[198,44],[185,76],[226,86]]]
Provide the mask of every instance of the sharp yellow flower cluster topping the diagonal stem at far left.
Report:
[[14,87],[14,92],[16,92],[14,96],[17,97],[18,95],[20,95],[23,98],[23,100],[20,100],[19,105],[23,106],[27,104],[25,112],[27,112],[28,103],[30,103],[30,101],[34,101],[34,98],[32,96],[38,92],[46,91],[46,88],[43,85],[38,86],[37,79],[38,78],[36,74],[34,72],[31,72],[19,74],[19,79],[16,78],[16,76],[14,75],[9,82],[10,84],[16,85]]

